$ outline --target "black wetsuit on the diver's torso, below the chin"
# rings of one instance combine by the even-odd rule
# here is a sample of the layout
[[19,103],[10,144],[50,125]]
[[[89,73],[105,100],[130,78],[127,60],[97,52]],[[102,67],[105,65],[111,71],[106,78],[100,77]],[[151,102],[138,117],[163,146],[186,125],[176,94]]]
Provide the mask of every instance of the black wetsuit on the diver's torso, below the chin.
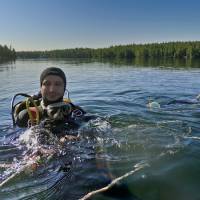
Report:
[[[56,134],[64,134],[63,130],[69,131],[80,127],[81,122],[88,121],[92,117],[86,115],[86,112],[79,106],[69,102],[57,102],[48,106],[43,105],[43,101],[35,100],[39,110],[39,123],[45,127],[51,128]],[[31,112],[35,117],[34,106],[30,104]],[[30,125],[30,114],[26,108],[26,103],[21,102],[15,106],[15,123],[19,127],[28,127]]]

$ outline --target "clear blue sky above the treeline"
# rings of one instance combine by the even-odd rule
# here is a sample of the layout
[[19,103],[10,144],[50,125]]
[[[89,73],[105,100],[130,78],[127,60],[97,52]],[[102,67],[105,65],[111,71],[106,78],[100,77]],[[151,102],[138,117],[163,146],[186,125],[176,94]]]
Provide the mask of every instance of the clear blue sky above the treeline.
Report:
[[200,40],[200,0],[0,0],[0,44],[21,50]]

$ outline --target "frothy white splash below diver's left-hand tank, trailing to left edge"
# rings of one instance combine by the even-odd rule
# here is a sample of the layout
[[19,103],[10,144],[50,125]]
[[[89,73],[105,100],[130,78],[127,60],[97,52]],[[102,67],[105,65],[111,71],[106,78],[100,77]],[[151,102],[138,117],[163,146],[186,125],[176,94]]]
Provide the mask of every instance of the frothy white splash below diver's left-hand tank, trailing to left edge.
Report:
[[23,149],[23,158],[14,157],[11,163],[1,164],[0,167],[6,170],[1,174],[0,187],[22,172],[34,172],[39,166],[46,165],[52,157],[63,152],[58,138],[39,126],[33,126],[21,134],[16,147]]

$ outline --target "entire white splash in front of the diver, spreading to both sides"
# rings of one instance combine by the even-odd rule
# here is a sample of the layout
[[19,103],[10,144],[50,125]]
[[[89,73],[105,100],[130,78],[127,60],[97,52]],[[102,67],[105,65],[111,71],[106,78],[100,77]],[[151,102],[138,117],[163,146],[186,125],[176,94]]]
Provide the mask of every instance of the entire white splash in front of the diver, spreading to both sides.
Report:
[[15,142],[16,147],[22,150],[23,158],[15,157],[11,163],[0,166],[5,168],[0,177],[0,187],[21,173],[31,174],[42,166],[49,166],[50,162],[59,156],[71,154],[68,160],[72,160],[73,163],[82,163],[86,159],[95,157],[96,146],[108,142],[110,133],[110,123],[101,118],[90,120],[77,130],[77,140],[69,139],[70,134],[74,134],[72,130],[68,133],[67,140],[63,142],[47,127],[33,126],[24,131]]

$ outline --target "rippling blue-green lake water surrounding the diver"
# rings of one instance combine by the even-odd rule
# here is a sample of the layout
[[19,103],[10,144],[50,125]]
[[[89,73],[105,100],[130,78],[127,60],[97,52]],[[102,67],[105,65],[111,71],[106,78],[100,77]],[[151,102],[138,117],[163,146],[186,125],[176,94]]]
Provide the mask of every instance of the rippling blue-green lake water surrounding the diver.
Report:
[[[76,60],[1,64],[0,164],[20,166],[25,156],[16,140],[26,130],[12,127],[13,95],[37,93],[40,73],[50,66],[64,70],[71,100],[98,120],[82,128],[87,134],[83,142],[69,144],[74,163],[70,173],[58,170],[62,159],[49,161],[38,170],[17,174],[0,188],[0,199],[80,199],[105,186],[108,176],[117,178],[134,169],[138,171],[120,182],[127,199],[200,199],[198,68]],[[149,99],[160,107],[148,107]],[[17,170],[16,165],[0,168],[0,178]],[[92,199],[126,197],[97,194]]]

